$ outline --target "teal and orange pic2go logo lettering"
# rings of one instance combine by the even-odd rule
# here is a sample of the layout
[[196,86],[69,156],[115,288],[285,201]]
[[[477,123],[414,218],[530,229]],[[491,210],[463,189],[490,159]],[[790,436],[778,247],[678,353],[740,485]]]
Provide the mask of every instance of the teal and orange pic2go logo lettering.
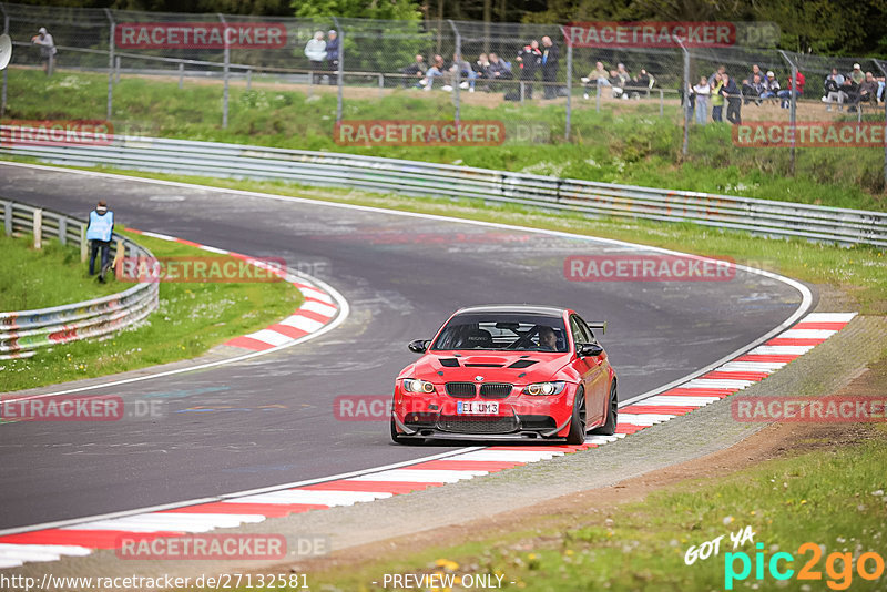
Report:
[[[765,567],[769,576],[774,580],[788,580],[795,575],[795,570],[787,565],[795,561],[792,553],[774,553],[769,560],[766,560],[761,551],[764,549],[764,543],[756,543],[755,548],[758,550],[754,559],[755,580],[764,580]],[[823,558],[823,548],[812,542],[806,542],[797,548],[798,555],[807,553],[810,553],[812,557],[798,570],[796,578],[798,580],[823,580],[823,572],[816,569]],[[745,581],[752,574],[752,558],[746,552],[725,553],[724,589],[733,590],[734,582]],[[737,568],[738,571],[736,571]],[[854,562],[853,553],[839,553],[837,551],[829,553],[825,560],[826,585],[832,590],[847,590],[853,583],[854,571],[863,580],[875,581],[884,575],[884,558],[876,552],[869,551],[859,555]]]

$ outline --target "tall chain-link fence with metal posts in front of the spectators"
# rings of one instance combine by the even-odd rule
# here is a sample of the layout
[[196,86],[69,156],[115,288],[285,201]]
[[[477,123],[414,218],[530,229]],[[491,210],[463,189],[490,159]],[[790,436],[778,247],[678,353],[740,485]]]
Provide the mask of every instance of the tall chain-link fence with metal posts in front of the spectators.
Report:
[[[744,23],[743,34],[730,47],[684,44],[676,35],[657,44],[589,47],[574,42],[570,25],[559,24],[265,18],[14,3],[0,3],[0,16],[14,44],[13,70],[45,68],[60,79],[58,84],[72,89],[81,83],[80,73],[105,74],[106,102],[94,105],[94,116],[114,122],[118,131],[150,132],[151,121],[114,104],[121,81],[145,78],[175,81],[180,89],[200,86],[201,101],[217,109],[195,109],[194,123],[226,129],[236,126],[238,114],[247,110],[310,110],[317,116],[305,127],[305,137],[332,134],[339,144],[365,145],[368,126],[378,122],[427,120],[428,104],[431,127],[440,122],[485,122],[491,135],[481,137],[479,145],[485,140],[487,145],[588,142],[599,124],[589,123],[587,114],[593,111],[682,126],[683,155],[699,141],[700,134],[690,133],[694,126],[723,121],[734,127],[759,123],[791,129],[792,140],[785,145],[794,170],[802,145],[794,134],[810,122],[887,124],[887,110],[880,106],[887,62],[755,48],[759,38],[750,34],[755,32],[751,23]],[[49,29],[58,48],[51,60],[32,43],[41,27]],[[198,30],[203,37],[195,39]],[[855,86],[827,88],[833,69]],[[9,69],[3,72],[0,116],[7,111],[8,76]],[[866,95],[863,88],[875,92]],[[174,93],[146,94],[152,101],[172,98]],[[378,101],[387,98],[398,99]],[[427,137],[395,140],[427,144]]]

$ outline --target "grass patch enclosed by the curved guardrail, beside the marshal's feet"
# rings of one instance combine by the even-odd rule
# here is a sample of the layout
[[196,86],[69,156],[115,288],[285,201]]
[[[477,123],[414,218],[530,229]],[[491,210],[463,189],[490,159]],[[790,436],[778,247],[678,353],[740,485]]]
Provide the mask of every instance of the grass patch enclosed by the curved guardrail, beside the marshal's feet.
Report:
[[[120,285],[99,284],[80,263],[80,251],[44,241],[33,247],[33,236],[0,235],[0,310],[31,310],[101,298],[120,292]],[[96,266],[99,262],[96,261]]]

